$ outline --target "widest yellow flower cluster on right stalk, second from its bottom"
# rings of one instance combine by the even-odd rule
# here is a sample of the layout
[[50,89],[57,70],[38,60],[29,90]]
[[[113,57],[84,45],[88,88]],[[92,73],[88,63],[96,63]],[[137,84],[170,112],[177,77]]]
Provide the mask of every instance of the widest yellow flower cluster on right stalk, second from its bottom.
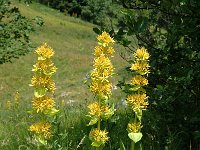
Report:
[[146,94],[129,95],[126,99],[127,105],[134,111],[146,109],[149,105]]

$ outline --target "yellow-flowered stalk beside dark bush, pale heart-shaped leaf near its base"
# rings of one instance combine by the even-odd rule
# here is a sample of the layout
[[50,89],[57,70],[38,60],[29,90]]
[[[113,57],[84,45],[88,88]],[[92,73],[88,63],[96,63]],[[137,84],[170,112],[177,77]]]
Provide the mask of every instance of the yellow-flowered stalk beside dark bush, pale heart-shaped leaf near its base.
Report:
[[133,110],[133,120],[128,124],[128,136],[132,140],[131,150],[134,150],[135,143],[141,140],[142,133],[141,118],[142,111],[148,107],[148,96],[146,95],[145,86],[148,85],[147,76],[149,73],[149,53],[142,47],[133,54],[134,62],[131,65],[131,70],[134,71],[134,76],[131,80],[131,94],[128,95],[127,105]]

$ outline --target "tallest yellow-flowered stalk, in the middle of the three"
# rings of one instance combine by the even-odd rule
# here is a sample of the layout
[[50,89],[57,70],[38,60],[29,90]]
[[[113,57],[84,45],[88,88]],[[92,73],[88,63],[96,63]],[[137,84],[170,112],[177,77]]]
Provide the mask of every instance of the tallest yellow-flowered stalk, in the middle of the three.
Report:
[[[88,125],[94,125],[89,134],[92,146],[97,149],[104,145],[109,137],[106,130],[101,129],[101,121],[109,119],[114,108],[108,105],[108,100],[112,94],[112,83],[109,81],[113,75],[114,67],[110,61],[114,49],[112,47],[114,40],[106,32],[97,37],[98,45],[94,49],[94,69],[90,74],[90,90],[95,95],[95,102],[88,106],[90,122]],[[97,126],[95,126],[97,124]]]

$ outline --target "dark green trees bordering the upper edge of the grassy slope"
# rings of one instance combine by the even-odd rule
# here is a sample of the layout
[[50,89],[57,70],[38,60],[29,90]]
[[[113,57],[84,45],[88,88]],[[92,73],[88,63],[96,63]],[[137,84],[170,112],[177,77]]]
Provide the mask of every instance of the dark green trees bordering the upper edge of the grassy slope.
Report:
[[119,17],[119,7],[112,0],[35,0],[74,17],[109,27]]

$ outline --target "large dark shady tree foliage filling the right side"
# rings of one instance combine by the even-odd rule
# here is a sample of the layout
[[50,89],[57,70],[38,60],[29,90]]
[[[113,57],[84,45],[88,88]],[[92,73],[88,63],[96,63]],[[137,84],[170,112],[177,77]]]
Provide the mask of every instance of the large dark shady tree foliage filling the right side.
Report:
[[124,7],[124,17],[119,20],[118,32],[110,33],[132,52],[130,37],[136,36],[138,44],[151,54],[151,108],[144,119],[144,145],[199,149],[200,1],[117,2]]

